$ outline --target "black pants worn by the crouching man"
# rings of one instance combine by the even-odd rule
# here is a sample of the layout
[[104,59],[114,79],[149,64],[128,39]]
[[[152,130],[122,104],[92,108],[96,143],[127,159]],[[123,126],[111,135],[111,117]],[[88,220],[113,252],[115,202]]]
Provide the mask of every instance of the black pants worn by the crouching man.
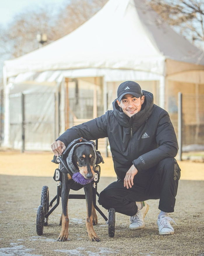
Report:
[[180,171],[173,157],[165,158],[151,170],[138,172],[132,188],[124,187],[123,180],[108,185],[99,195],[99,204],[105,209],[114,208],[116,212],[133,216],[138,210],[135,202],[160,199],[159,209],[173,212]]

